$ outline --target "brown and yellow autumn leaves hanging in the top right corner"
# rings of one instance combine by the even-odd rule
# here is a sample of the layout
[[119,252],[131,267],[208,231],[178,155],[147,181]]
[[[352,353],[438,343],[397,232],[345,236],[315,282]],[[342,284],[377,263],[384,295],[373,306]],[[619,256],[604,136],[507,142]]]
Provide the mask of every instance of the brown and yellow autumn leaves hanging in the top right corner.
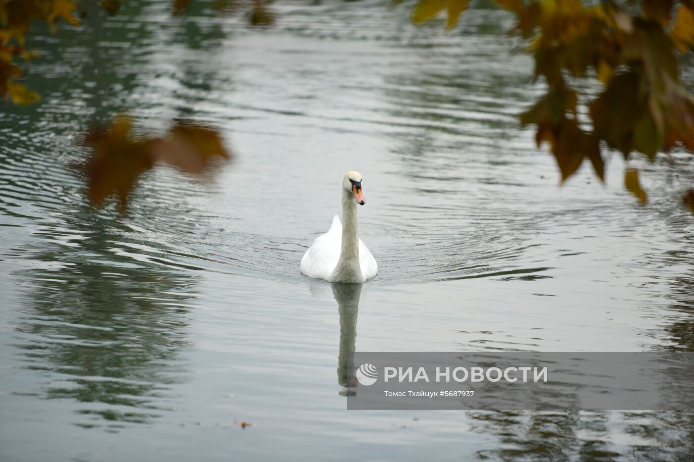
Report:
[[[590,5],[580,0],[493,0],[514,12],[509,31],[527,40],[534,77],[548,92],[521,114],[536,127],[536,142],[547,142],[562,181],[587,158],[604,180],[602,148],[637,151],[654,160],[659,151],[694,151],[694,98],[679,79],[678,51],[694,50],[694,0],[642,0]],[[412,20],[423,22],[446,11],[452,28],[469,0],[419,0]],[[602,91],[582,101],[577,78],[595,78]],[[575,85],[574,85],[575,86]],[[645,203],[638,172],[625,171],[625,186]],[[691,193],[688,199],[691,203]]]

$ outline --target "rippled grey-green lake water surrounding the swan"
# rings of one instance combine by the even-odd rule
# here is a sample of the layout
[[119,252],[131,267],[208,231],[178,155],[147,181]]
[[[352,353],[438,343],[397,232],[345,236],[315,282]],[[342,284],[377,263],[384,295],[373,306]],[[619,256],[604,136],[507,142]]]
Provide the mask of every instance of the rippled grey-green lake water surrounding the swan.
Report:
[[[645,207],[618,154],[560,187],[518,128],[543,87],[500,10],[446,32],[278,1],[257,29],[125,3],[35,33],[43,101],[0,107],[1,460],[691,460],[691,413],[346,411],[344,373],[355,348],[694,350],[691,156],[633,161]],[[122,112],[210,123],[234,162],[91,207],[77,140]],[[299,262],[350,169],[380,271],[345,289]]]

